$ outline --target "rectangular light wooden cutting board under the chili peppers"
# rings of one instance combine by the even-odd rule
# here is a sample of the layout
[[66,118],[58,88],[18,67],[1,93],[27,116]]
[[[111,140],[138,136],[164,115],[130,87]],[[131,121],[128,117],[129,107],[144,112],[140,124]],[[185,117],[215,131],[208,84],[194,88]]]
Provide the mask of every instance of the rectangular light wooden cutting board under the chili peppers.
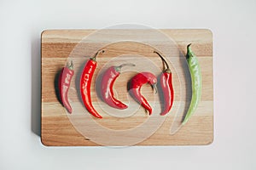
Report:
[[[170,39],[168,39],[170,38]],[[202,74],[201,102],[195,114],[180,126],[191,92],[186,46],[197,55]],[[170,45],[171,44],[171,45]],[[211,144],[213,140],[212,32],[209,30],[49,30],[42,33],[42,143],[49,146],[96,145],[186,145]],[[171,47],[172,46],[172,47]],[[103,118],[96,119],[79,99],[79,77],[84,62],[99,48],[106,53],[97,58],[92,80],[93,105]],[[172,111],[160,116],[160,95],[143,86],[143,95],[154,106],[152,116],[132,101],[126,84],[138,71],[160,74],[162,62],[153,51],[168,54],[173,71],[175,99]],[[57,78],[67,61],[73,60],[75,75],[68,92],[73,114],[68,114],[57,98]],[[110,65],[136,63],[127,67],[114,84],[115,95],[131,110],[115,111],[104,104],[97,86]],[[190,87],[191,88],[191,87]],[[130,112],[129,112],[130,111]]]

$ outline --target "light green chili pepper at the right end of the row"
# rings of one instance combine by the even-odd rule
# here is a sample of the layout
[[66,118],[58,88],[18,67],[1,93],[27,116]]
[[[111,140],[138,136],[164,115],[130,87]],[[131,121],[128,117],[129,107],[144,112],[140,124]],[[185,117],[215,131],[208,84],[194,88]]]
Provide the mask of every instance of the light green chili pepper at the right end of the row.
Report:
[[190,116],[195,112],[197,105],[201,99],[201,68],[198,60],[190,48],[191,43],[187,46],[186,59],[189,65],[189,72],[191,77],[191,87],[192,87],[192,98],[189,105],[189,110],[185,118],[183,119],[183,125],[189,121]]

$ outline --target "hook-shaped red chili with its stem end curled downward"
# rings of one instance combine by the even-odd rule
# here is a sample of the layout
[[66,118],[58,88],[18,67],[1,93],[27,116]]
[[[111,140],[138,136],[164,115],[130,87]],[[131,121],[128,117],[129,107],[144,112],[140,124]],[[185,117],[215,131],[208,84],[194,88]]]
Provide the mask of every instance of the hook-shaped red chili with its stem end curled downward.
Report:
[[[131,84],[130,84],[130,92],[131,95],[137,100],[137,102],[142,105],[149,113],[149,115],[152,114],[152,108],[148,104],[147,99],[143,97],[143,94],[141,94],[141,88],[143,84],[149,83],[152,88],[155,90],[156,88],[156,82],[157,79],[151,72],[141,72],[138,73],[136,76],[131,78]],[[155,91],[157,93],[157,91]]]

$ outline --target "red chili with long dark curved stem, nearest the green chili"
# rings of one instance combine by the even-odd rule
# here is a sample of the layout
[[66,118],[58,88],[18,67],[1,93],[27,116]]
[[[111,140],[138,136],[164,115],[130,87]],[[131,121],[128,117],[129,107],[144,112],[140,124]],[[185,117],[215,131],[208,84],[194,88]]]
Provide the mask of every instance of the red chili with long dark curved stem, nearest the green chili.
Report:
[[164,94],[164,109],[161,111],[160,115],[164,116],[172,109],[174,99],[174,91],[172,86],[172,71],[168,63],[166,62],[166,59],[164,59],[158,52],[154,51],[154,53],[160,56],[160,58],[167,67],[164,67],[164,70],[160,75],[160,86]]

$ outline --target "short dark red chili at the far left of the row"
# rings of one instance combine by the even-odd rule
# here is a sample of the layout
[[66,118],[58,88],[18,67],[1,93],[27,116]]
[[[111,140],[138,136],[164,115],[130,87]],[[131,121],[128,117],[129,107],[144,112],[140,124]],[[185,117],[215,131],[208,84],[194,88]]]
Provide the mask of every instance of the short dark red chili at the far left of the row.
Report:
[[60,99],[62,105],[67,109],[69,113],[72,113],[72,107],[68,102],[67,99],[67,92],[70,87],[70,82],[73,77],[73,61],[71,61],[70,65],[66,65],[65,67],[62,68],[61,74],[59,77],[59,82],[58,82],[58,88],[60,90]]

